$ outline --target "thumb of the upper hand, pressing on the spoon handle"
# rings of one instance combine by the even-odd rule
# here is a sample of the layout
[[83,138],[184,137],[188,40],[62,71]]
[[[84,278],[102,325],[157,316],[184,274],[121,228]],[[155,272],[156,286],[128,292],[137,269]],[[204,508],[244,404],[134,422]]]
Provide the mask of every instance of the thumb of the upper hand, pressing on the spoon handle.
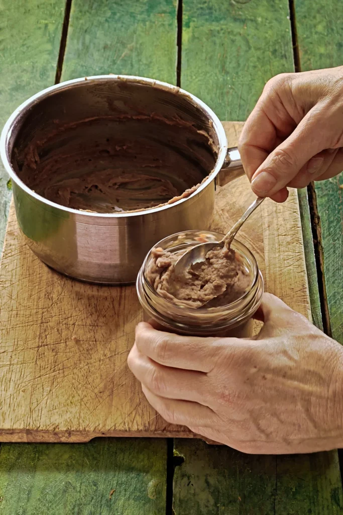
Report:
[[259,166],[251,178],[251,187],[256,195],[275,195],[294,179],[306,163],[309,177],[320,169],[323,158],[314,156],[326,148],[326,142],[323,127],[318,130],[322,123],[317,118],[317,111],[309,111],[292,134]]

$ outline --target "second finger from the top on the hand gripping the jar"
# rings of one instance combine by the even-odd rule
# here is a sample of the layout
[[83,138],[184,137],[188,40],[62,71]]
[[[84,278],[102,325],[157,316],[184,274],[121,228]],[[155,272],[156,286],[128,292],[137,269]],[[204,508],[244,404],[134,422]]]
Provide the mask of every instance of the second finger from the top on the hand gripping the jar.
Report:
[[130,351],[128,365],[138,381],[156,395],[207,405],[208,392],[212,388],[204,372],[159,365],[148,356],[141,354],[136,345]]

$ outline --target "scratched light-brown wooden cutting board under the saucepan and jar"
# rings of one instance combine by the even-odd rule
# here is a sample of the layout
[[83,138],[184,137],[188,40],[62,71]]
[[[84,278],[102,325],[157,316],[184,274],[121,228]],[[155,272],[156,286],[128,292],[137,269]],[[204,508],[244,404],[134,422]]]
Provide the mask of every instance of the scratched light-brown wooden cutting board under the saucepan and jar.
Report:
[[[230,146],[242,123],[224,122]],[[216,194],[226,232],[254,198],[245,177]],[[265,289],[311,316],[297,194],[269,199],[241,229]],[[126,360],[142,318],[134,286],[93,286],[50,270],[29,250],[12,205],[1,263],[0,441],[195,436],[156,415]]]

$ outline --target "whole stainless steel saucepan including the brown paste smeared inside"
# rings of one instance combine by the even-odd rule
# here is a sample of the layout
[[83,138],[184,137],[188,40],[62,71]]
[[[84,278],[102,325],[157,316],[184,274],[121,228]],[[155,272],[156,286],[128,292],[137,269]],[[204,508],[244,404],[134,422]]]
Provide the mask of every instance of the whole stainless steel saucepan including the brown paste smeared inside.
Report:
[[1,155],[32,251],[79,280],[132,283],[155,242],[208,229],[215,181],[243,173],[215,114],[173,85],[96,76],[9,118]]

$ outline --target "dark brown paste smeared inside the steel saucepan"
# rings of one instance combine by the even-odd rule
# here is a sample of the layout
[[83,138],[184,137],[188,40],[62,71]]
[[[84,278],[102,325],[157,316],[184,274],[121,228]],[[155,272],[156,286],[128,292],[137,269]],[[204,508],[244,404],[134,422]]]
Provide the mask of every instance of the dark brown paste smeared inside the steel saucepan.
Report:
[[209,135],[157,114],[86,118],[33,139],[20,178],[42,197],[81,211],[141,211],[191,195],[215,163]]

